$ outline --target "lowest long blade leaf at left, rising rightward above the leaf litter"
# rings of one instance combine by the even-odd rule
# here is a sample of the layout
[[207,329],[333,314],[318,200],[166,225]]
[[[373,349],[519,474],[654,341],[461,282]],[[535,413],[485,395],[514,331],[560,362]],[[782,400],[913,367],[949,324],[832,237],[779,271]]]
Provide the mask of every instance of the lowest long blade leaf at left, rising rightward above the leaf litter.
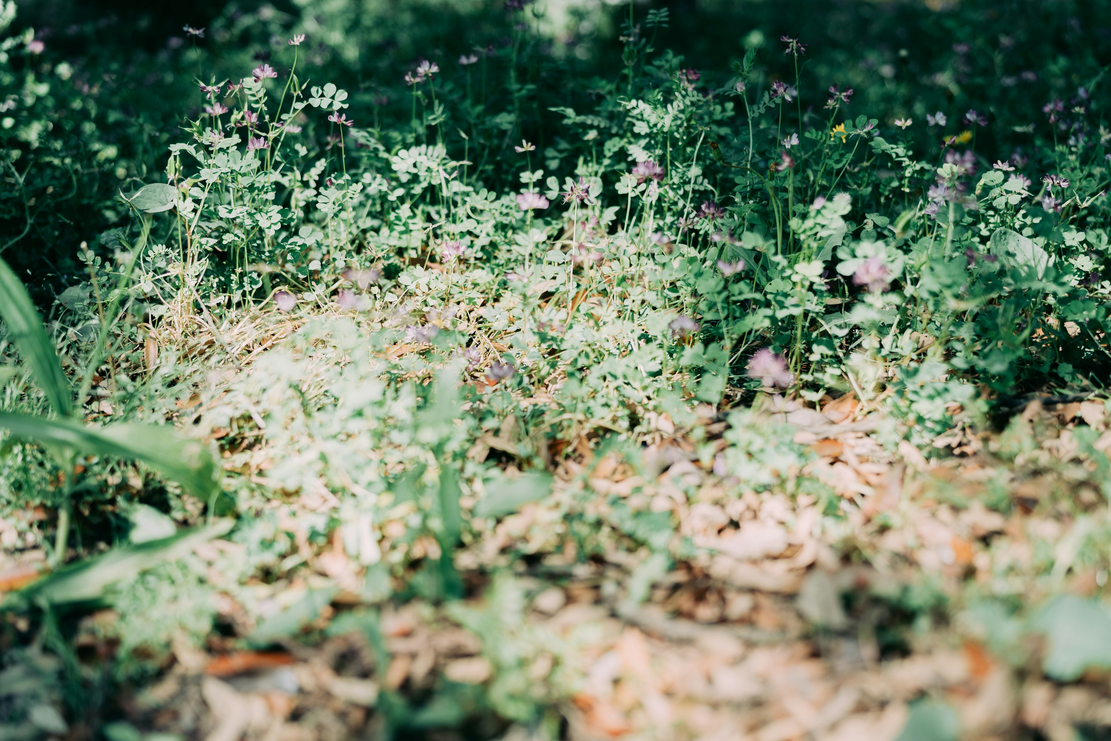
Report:
[[132,579],[162,561],[180,558],[198,543],[227,533],[233,524],[234,521],[226,520],[206,528],[183,530],[169,538],[117,548],[43,577],[11,594],[4,604],[69,604],[102,599],[112,584]]

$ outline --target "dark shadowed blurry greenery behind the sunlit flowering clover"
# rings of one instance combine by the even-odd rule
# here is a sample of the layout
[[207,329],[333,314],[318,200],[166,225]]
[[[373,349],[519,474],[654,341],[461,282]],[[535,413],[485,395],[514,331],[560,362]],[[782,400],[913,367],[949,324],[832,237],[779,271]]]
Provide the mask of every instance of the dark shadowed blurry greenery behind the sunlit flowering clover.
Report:
[[[490,51],[484,102],[494,114],[507,104],[511,20],[503,6],[20,0],[12,30],[33,29],[43,47],[34,59],[43,69],[63,62],[64,73],[51,76],[49,94],[30,112],[41,114],[36,141],[13,139],[20,126],[0,130],[4,146],[22,150],[22,167],[36,162],[21,183],[9,172],[0,191],[0,250],[40,300],[73,282],[74,250],[81,242],[103,247],[102,232],[121,223],[116,194],[157,179],[167,144],[197,116],[200,71],[237,79],[260,61],[279,66],[278,52],[294,31],[308,34],[304,74],[352,89],[351,113],[360,122],[384,129],[408,120],[404,71],[422,58],[458,70],[453,60],[474,49]],[[549,0],[546,8],[537,29],[546,40],[532,50],[524,90],[529,104],[513,132],[542,144],[561,118],[549,108],[589,108],[602,78],[621,64],[628,13],[628,4],[597,1]],[[725,81],[730,63],[762,44],[763,83],[793,81],[792,58],[779,42],[790,34],[807,44],[803,100],[821,101],[837,83],[854,89],[852,112],[881,120],[975,109],[992,123],[974,127],[975,146],[1001,154],[1029,146],[1024,127],[1040,120],[1047,101],[1074,98],[1079,88],[1105,94],[1100,82],[1111,62],[1107,0],[679,0],[639,2],[635,11],[643,19],[647,10],[664,8],[669,24],[653,31],[654,47],[672,49],[710,79]],[[187,38],[187,24],[206,29],[203,38]],[[13,63],[19,69],[26,61]],[[568,68],[578,84],[565,84]],[[0,91],[11,94],[21,83],[11,76]],[[1003,111],[1008,126],[995,126]],[[803,113],[818,114],[820,107]],[[484,167],[496,184],[497,153]]]

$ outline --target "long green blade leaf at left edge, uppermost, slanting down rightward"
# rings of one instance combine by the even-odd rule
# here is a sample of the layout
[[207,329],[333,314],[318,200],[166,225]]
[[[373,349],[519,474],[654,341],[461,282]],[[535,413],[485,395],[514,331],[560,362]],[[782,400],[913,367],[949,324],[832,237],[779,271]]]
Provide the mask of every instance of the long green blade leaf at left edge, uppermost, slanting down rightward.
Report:
[[39,387],[47,394],[50,408],[61,417],[69,417],[73,394],[54,352],[54,343],[47,334],[23,283],[3,260],[0,260],[0,318],[8,326],[23,362],[31,368]]

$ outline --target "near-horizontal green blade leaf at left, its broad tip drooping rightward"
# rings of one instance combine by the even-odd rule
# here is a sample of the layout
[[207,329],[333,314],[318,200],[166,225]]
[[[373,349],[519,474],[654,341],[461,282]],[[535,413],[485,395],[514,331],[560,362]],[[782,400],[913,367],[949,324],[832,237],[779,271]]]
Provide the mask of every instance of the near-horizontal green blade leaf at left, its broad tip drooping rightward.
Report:
[[10,412],[0,412],[0,427],[8,428],[17,437],[48,445],[142,461],[201,499],[219,489],[216,462],[208,449],[170,429],[149,424],[112,424],[97,429],[70,420]]

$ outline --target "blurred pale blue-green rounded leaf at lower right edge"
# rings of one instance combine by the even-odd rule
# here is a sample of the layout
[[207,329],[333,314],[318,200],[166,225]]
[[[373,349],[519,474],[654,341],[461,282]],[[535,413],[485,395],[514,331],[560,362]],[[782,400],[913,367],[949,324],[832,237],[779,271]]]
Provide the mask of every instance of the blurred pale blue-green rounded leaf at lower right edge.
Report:
[[1049,639],[1042,669],[1051,679],[1071,682],[1089,668],[1111,668],[1111,613],[1103,604],[1061,595],[1030,624]]

